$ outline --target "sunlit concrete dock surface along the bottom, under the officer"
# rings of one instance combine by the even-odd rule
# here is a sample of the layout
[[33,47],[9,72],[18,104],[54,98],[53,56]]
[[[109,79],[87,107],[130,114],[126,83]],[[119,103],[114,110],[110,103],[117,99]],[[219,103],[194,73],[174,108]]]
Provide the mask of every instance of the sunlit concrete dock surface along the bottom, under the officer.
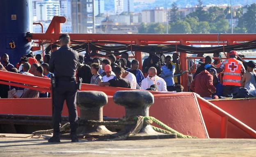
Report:
[[0,134],[0,157],[256,157],[256,139],[82,139],[77,143],[61,139],[50,144],[44,138],[21,138],[26,136]]

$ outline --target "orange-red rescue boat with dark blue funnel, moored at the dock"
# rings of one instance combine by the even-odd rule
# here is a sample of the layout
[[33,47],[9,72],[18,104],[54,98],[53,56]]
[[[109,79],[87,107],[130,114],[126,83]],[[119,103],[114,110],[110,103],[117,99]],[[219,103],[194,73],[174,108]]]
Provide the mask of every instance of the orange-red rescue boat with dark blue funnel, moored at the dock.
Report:
[[[16,0],[12,4],[9,4],[8,0],[1,2],[0,55],[7,53],[12,63],[18,62],[20,57],[24,53],[29,53],[30,50],[42,50],[44,55],[46,48],[44,44],[49,45],[50,51],[57,49],[55,45],[57,45],[59,35],[62,34],[61,24],[66,21],[65,17],[55,16],[45,33],[31,33],[30,3],[30,0]],[[95,42],[101,42],[101,45],[119,42],[130,47],[174,45],[172,49],[180,52],[182,71],[188,70],[188,59],[201,59],[201,57],[188,57],[189,52],[178,49],[180,45],[218,44],[223,47],[221,52],[226,54],[225,47],[256,39],[255,34],[69,33],[69,35],[72,44],[88,43],[87,50],[90,49],[90,44]],[[133,52],[132,48],[131,51]],[[136,50],[134,56],[130,57],[139,60],[139,69],[142,69],[142,51]],[[227,57],[228,55],[222,59]],[[0,84],[20,87],[27,84],[29,86],[26,88],[50,92],[50,80],[6,71],[0,71]],[[204,100],[196,93],[187,92],[187,73],[181,76],[181,84],[185,87],[185,92],[182,93],[151,92],[155,102],[150,108],[150,116],[159,119],[180,133],[198,138],[256,138],[255,98]],[[121,90],[129,89],[99,87],[91,84],[82,84],[81,88],[81,91],[103,91],[108,95],[108,103],[103,109],[103,115],[108,118],[120,118],[125,115],[124,108],[113,101],[114,93]],[[50,128],[51,98],[0,99],[0,108],[0,132],[2,133],[30,133],[39,128]],[[62,115],[68,115],[66,106],[64,106]]]

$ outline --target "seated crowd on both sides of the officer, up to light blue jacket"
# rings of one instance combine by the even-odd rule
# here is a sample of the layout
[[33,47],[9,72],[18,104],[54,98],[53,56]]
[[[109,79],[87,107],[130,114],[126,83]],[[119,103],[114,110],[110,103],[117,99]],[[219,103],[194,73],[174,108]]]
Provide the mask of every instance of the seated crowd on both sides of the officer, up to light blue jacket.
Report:
[[[162,66],[162,69],[151,66],[147,69],[147,74],[145,75],[139,70],[138,60],[129,61],[128,53],[123,53],[119,59],[113,54],[107,55],[105,59],[79,55],[80,65],[77,76],[82,78],[82,83],[96,84],[99,86],[181,92],[183,91],[183,86],[178,84],[175,86],[173,79],[175,69],[170,64],[170,60],[171,57],[167,56],[167,64]],[[14,66],[9,62],[9,56],[3,54],[0,59],[0,70],[50,79],[49,61],[49,54],[44,55],[42,60],[40,54],[34,56],[32,53],[29,53],[23,55],[20,62]],[[159,70],[161,77],[157,75]],[[0,97],[50,97],[50,93],[0,84]]]

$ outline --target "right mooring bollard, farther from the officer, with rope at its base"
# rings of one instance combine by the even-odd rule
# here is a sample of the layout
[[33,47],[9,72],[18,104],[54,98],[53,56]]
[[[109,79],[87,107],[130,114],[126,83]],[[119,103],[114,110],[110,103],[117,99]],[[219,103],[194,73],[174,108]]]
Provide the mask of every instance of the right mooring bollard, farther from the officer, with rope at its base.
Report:
[[[154,103],[154,96],[148,91],[117,91],[114,94],[114,102],[124,106],[127,118],[136,116],[149,116],[149,107]],[[129,130],[133,126],[127,126]],[[140,135],[159,135],[150,124],[144,124]]]

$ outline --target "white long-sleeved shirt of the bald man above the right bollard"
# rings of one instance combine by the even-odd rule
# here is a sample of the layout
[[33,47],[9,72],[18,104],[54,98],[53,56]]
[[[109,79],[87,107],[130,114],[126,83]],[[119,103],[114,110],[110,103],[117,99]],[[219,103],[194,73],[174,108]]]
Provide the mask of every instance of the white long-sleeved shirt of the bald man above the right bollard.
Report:
[[155,84],[158,86],[158,91],[167,91],[166,82],[161,77],[155,75],[155,77],[149,78],[147,76],[142,80],[141,89],[146,90],[147,88],[150,88],[152,84]]

